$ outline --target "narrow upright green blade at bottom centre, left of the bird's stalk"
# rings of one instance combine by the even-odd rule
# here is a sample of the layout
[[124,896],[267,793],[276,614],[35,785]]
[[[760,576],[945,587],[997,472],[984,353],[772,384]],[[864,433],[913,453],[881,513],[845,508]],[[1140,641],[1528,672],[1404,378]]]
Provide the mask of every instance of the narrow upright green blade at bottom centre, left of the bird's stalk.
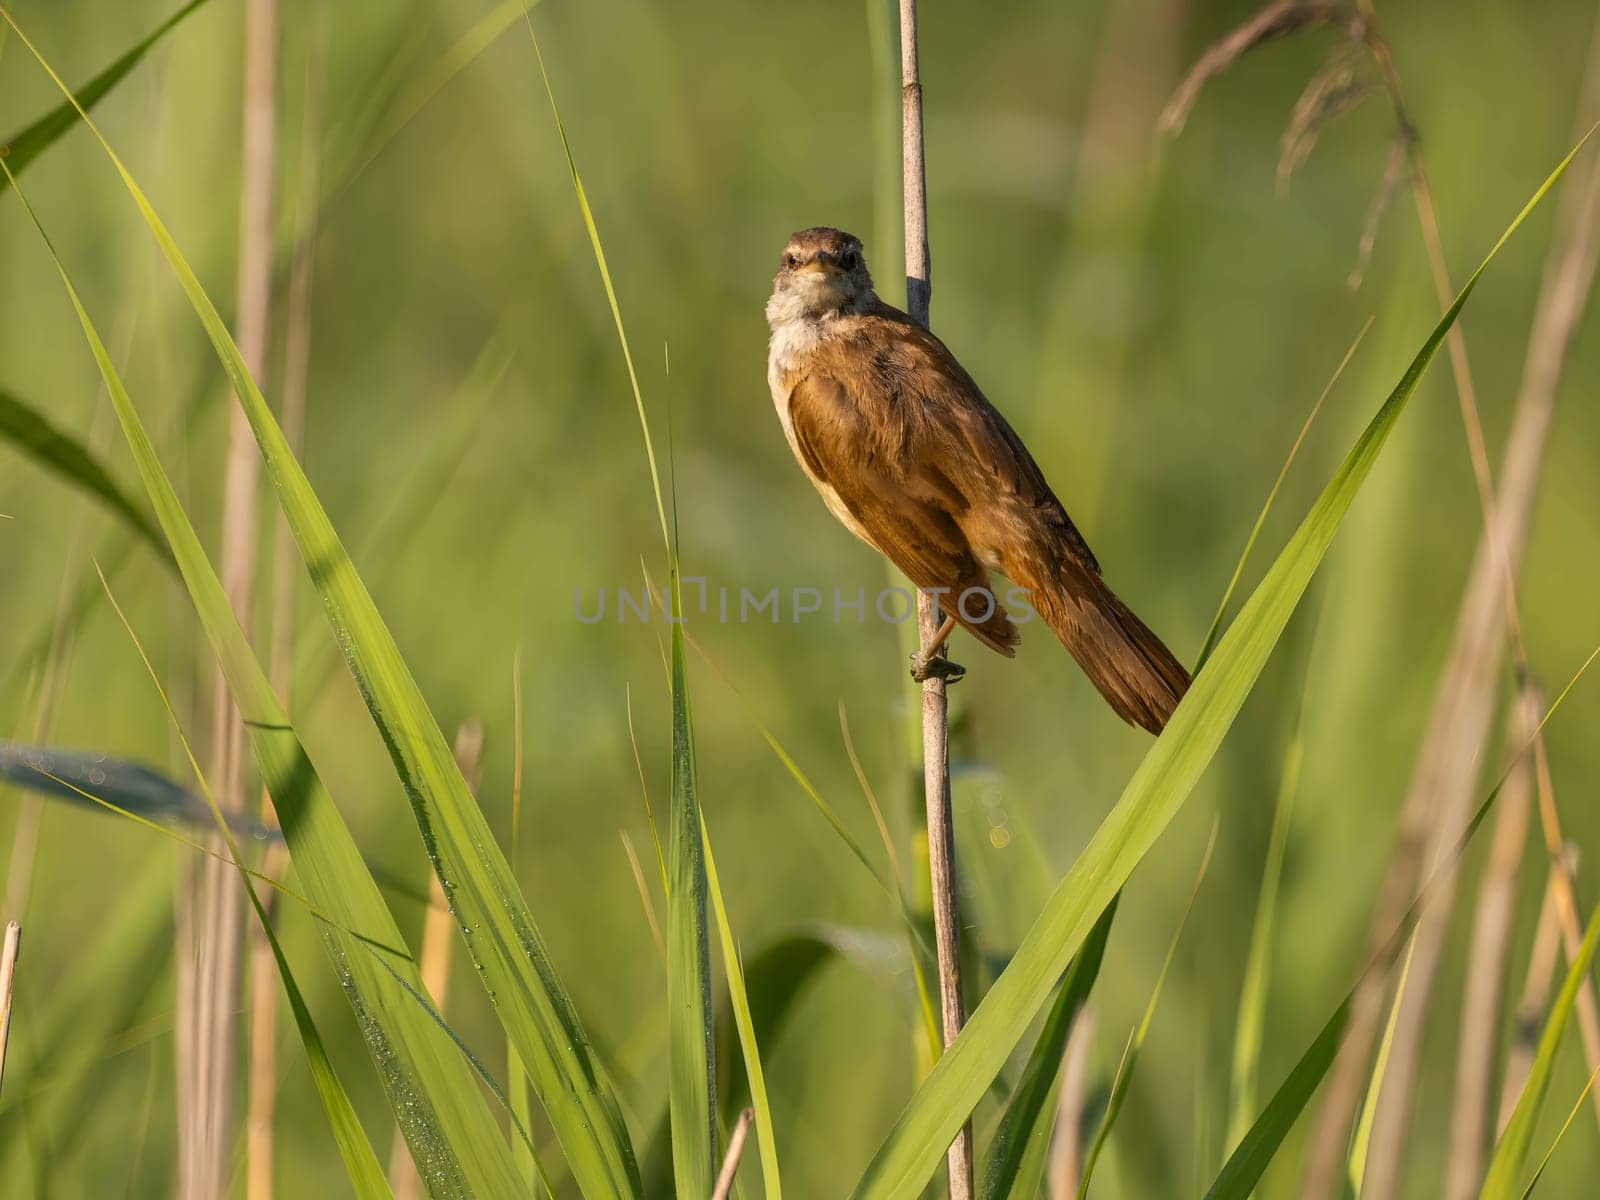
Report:
[[[682,611],[677,568],[674,605]],[[694,779],[694,733],[683,627],[672,626],[672,800],[667,813],[667,1106],[678,1195],[710,1195],[717,1178],[715,1026],[706,925],[706,843]]]

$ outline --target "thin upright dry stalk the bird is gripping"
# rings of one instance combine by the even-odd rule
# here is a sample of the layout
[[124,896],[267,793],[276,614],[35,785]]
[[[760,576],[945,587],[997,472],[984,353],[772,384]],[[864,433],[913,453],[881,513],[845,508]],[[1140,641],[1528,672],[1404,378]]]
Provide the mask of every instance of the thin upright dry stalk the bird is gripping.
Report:
[[[928,323],[933,293],[928,267],[928,176],[922,141],[922,78],[917,70],[917,0],[901,0],[901,178],[906,203],[906,310]],[[939,606],[917,594],[917,629],[923,653],[939,630]],[[933,890],[933,936],[939,957],[939,1011],[944,1045],[966,1024],[962,998],[962,926],[955,898],[955,830],[950,819],[950,728],[944,680],[930,674],[922,685],[922,781],[928,813],[928,874]],[[950,1200],[973,1195],[973,1126],[950,1142]]]

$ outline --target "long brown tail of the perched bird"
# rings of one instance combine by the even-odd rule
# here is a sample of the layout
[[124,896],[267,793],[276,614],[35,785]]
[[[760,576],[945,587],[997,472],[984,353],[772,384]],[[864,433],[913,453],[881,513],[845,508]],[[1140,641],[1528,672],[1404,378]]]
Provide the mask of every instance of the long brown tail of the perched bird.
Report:
[[1131,725],[1160,733],[1189,690],[1189,672],[1096,571],[1067,558],[1019,579],[1034,610]]

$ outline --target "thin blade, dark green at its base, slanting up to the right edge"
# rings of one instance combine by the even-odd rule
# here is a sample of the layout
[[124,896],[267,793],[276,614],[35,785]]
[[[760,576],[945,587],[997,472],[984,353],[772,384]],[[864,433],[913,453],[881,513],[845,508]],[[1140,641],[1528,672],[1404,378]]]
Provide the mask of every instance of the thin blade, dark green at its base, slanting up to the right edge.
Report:
[[[1534,734],[1544,728],[1544,725],[1555,715],[1555,710],[1562,707],[1566,696],[1578,680],[1584,677],[1589,667],[1600,659],[1600,648],[1584,659],[1584,664],[1578,669],[1566,686],[1555,696],[1550,707],[1546,709],[1539,726]],[[1526,747],[1525,747],[1526,749]],[[1518,755],[1510,755],[1510,762],[1515,763]],[[1440,859],[1435,872],[1427,878],[1422,888],[1418,891],[1416,898],[1411,901],[1411,907],[1406,909],[1398,925],[1395,926],[1394,936],[1389,944],[1382,947],[1373,958],[1368,960],[1366,968],[1362,976],[1373,970],[1378,962],[1390,960],[1390,955],[1397,950],[1400,942],[1411,936],[1416,928],[1416,922],[1432,898],[1434,885],[1440,880],[1445,870],[1451,869],[1454,861],[1466,851],[1467,845],[1472,842],[1474,835],[1483,826],[1485,818],[1494,808],[1494,802],[1499,798],[1501,787],[1506,786],[1506,778],[1510,768],[1501,774],[1499,781],[1490,789],[1490,794],[1478,805],[1478,810],[1472,814],[1467,827],[1462,830],[1461,837],[1451,851]],[[1261,1117],[1256,1123],[1250,1126],[1243,1139],[1234,1149],[1229,1160],[1222,1165],[1221,1174],[1211,1184],[1206,1192],[1206,1200],[1246,1200],[1254,1190],[1256,1184],[1261,1181],[1261,1174],[1267,1170],[1267,1163],[1278,1152],[1283,1139],[1288,1136],[1294,1122],[1299,1118],[1306,1104],[1310,1101],[1312,1094],[1322,1085],[1323,1077],[1333,1066],[1334,1056],[1339,1053],[1339,1040],[1344,1037],[1344,1027],[1350,1019],[1350,1003],[1355,998],[1355,989],[1360,987],[1360,979],[1346,992],[1339,1006],[1333,1011],[1333,1016],[1323,1024],[1322,1030],[1317,1034],[1315,1040],[1307,1046],[1306,1053],[1301,1054],[1299,1061],[1290,1070],[1288,1077],[1267,1101],[1267,1107],[1262,1109]]]

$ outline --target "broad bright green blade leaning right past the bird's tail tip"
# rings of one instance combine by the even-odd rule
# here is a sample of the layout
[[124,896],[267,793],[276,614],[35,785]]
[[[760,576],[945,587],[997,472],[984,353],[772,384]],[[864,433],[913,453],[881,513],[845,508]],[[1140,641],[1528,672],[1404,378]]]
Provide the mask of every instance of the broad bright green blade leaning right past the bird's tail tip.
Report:
[[1056,886],[1011,965],[890,1130],[859,1181],[856,1197],[909,1200],[938,1170],[946,1147],[1000,1074],[1094,920],[1205,773],[1378,461],[1395,421],[1483,270],[1546,197],[1579,147],[1539,186],[1418,350],[1394,392],[1222,635],[1206,669],[1195,677],[1166,731],[1146,754],[1115,808]]

